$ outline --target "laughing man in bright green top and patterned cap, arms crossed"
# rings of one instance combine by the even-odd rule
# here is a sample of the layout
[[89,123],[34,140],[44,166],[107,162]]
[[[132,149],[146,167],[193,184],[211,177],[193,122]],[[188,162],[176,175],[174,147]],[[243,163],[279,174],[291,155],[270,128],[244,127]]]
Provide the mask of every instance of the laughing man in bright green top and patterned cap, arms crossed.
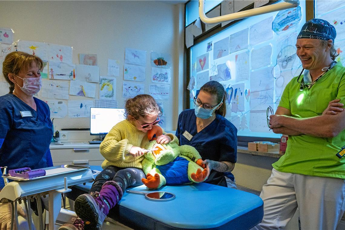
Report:
[[345,157],[336,155],[345,146],[345,68],[334,61],[335,37],[322,19],[306,22],[298,34],[304,71],[270,116],[273,132],[289,138],[260,194],[264,218],[256,229],[285,228],[297,207],[301,229],[335,229],[344,213]]

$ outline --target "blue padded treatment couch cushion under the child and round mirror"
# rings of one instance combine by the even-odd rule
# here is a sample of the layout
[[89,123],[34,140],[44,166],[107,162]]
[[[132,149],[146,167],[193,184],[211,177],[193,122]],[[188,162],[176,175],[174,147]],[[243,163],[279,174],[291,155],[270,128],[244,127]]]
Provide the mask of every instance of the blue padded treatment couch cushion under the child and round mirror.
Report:
[[[95,169],[95,168],[93,168]],[[99,169],[97,169],[99,170]],[[67,197],[85,193],[91,183],[77,185]],[[147,190],[145,186],[130,188]],[[124,193],[108,217],[133,229],[250,229],[263,217],[263,201],[255,194],[194,183],[158,189],[176,194],[176,199],[155,202],[138,194]]]

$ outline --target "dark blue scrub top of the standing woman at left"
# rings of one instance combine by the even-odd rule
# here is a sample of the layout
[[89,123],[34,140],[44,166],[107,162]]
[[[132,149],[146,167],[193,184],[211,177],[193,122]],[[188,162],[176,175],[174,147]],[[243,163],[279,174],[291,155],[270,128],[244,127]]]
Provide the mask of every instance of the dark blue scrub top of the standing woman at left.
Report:
[[[7,166],[9,170],[52,166],[49,144],[53,131],[49,106],[40,99],[34,100],[37,111],[13,94],[0,97],[1,167]],[[22,117],[20,111],[30,111],[32,117]],[[2,187],[3,179],[0,178]]]

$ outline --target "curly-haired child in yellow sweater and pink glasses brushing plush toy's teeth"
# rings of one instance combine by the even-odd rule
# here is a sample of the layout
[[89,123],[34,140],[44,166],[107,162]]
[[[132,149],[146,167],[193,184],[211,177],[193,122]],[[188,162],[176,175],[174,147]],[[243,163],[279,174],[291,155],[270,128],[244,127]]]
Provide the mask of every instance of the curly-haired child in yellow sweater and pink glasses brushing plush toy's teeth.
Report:
[[[89,193],[80,195],[75,201],[74,208],[80,218],[73,225],[64,224],[60,230],[101,229],[109,210],[121,199],[125,189],[142,184],[145,173],[141,161],[149,142],[147,131],[158,124],[162,111],[147,94],[128,99],[125,111],[126,120],[112,127],[100,144],[100,153],[105,158],[103,171]],[[157,137],[156,141],[162,144],[172,139],[174,135],[169,133]],[[178,141],[176,137],[174,141]]]

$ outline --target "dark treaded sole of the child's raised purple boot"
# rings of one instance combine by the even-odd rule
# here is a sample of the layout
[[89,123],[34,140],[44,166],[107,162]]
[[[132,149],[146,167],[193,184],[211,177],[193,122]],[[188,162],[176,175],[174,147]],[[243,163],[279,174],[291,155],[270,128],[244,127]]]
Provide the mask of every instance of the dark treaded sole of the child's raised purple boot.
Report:
[[101,230],[98,225],[98,209],[95,199],[89,194],[80,195],[75,203],[76,214],[84,221],[84,230]]

